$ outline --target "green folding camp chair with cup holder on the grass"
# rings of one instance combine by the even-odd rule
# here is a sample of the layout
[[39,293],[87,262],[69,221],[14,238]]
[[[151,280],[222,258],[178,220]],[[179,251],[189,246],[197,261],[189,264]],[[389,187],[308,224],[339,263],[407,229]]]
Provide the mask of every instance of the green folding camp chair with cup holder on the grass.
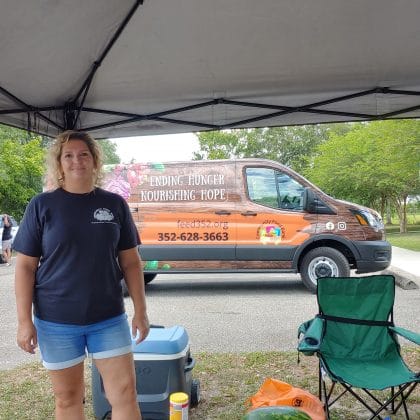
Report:
[[[390,275],[318,279],[319,313],[299,327],[298,351],[319,358],[319,398],[328,419],[329,408],[346,393],[370,411],[370,419],[401,406],[409,419],[406,400],[420,374],[404,363],[397,334],[418,345],[420,335],[394,326],[394,296]],[[333,395],[337,384],[344,387],[338,396]],[[388,389],[385,402],[372,392]]]

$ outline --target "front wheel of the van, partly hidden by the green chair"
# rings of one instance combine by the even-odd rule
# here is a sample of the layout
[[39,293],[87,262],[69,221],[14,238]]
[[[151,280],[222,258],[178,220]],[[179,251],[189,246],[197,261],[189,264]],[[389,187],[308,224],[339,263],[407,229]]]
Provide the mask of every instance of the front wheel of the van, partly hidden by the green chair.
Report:
[[318,278],[349,277],[350,265],[347,258],[334,248],[314,248],[303,257],[300,276],[303,284],[316,293]]

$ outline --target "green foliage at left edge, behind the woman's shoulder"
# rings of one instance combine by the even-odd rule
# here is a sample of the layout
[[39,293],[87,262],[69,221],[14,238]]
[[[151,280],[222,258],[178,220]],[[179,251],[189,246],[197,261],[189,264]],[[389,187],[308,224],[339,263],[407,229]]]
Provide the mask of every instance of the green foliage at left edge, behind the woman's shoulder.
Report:
[[29,200],[42,191],[44,150],[40,136],[0,127],[0,212],[20,219]]

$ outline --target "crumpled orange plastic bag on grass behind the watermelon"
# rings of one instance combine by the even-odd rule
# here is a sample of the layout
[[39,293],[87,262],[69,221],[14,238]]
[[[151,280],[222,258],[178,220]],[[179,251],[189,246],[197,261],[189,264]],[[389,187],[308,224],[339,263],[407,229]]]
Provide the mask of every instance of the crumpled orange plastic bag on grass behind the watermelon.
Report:
[[258,407],[286,405],[304,411],[312,420],[325,420],[324,406],[315,395],[272,378],[267,378],[247,403],[250,404],[248,411]]

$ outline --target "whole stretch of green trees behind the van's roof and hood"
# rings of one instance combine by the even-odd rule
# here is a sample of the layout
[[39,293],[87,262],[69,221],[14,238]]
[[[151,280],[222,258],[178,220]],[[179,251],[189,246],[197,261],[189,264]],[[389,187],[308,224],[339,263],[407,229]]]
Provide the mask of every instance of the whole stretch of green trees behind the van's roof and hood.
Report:
[[387,203],[406,229],[406,200],[419,194],[420,122],[390,120],[198,133],[194,159],[265,158],[305,175],[337,198]]

